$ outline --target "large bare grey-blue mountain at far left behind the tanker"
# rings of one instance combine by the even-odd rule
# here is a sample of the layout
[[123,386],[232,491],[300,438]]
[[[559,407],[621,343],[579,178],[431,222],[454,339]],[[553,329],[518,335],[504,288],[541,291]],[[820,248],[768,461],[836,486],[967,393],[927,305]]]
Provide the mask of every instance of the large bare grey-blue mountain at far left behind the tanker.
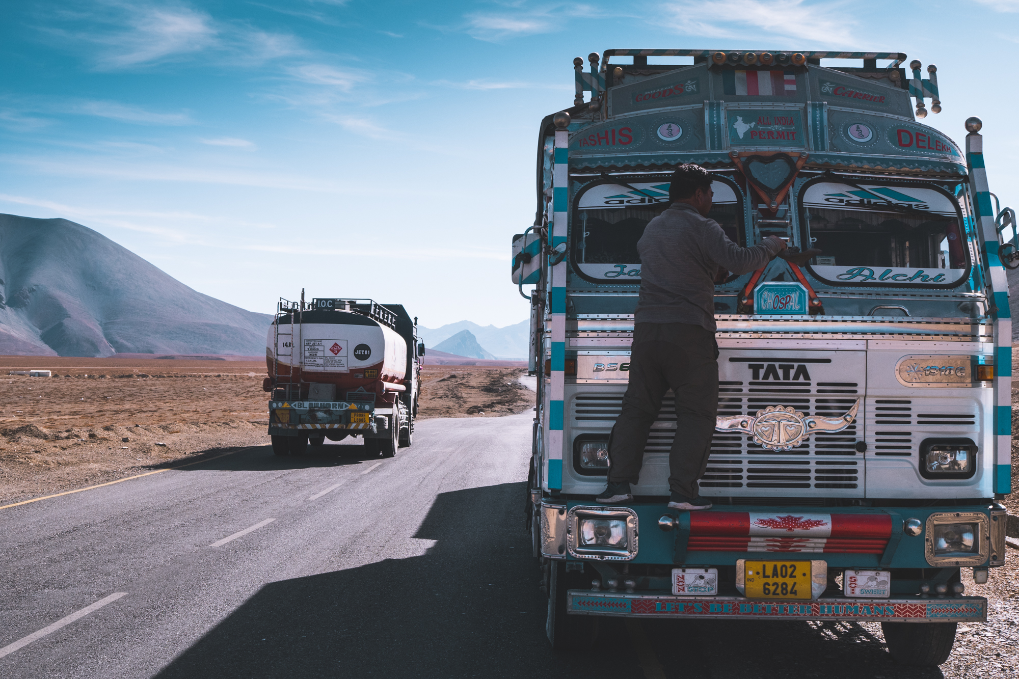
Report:
[[82,224],[0,214],[0,354],[264,356],[271,321]]

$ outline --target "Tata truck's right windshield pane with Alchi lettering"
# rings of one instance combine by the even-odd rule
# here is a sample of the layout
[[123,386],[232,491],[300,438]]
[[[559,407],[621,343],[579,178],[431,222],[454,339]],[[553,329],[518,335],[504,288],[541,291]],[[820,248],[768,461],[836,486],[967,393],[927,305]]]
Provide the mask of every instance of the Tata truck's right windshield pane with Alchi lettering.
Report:
[[951,284],[969,270],[959,206],[942,191],[815,181],[800,203],[805,236],[822,251],[810,269],[822,279]]

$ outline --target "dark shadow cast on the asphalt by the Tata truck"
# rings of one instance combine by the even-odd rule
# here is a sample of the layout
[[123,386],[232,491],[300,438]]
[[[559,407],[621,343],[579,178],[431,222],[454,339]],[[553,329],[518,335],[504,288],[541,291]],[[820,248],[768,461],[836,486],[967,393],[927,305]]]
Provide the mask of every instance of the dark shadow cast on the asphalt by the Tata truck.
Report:
[[590,650],[553,652],[524,495],[523,483],[441,493],[414,535],[435,540],[423,556],[265,585],[157,677],[943,677],[896,665],[855,623],[642,621],[635,643],[604,618]]

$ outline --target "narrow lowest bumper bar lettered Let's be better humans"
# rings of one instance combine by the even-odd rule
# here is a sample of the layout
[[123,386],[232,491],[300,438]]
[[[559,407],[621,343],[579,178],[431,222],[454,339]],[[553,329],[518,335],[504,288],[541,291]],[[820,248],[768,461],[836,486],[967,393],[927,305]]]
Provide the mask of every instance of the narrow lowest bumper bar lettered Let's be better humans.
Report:
[[675,596],[570,589],[567,612],[624,618],[739,618],[741,620],[852,620],[882,622],[986,622],[987,599],[823,597],[812,602],[766,602],[742,596]]

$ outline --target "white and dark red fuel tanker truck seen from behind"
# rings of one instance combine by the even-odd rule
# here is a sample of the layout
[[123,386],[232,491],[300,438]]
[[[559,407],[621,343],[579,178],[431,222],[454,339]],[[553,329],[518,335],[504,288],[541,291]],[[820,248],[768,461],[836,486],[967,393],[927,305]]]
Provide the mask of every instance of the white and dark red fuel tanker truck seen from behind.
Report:
[[360,436],[391,458],[411,446],[425,346],[418,319],[374,300],[280,299],[266,336],[269,436],[279,456]]

